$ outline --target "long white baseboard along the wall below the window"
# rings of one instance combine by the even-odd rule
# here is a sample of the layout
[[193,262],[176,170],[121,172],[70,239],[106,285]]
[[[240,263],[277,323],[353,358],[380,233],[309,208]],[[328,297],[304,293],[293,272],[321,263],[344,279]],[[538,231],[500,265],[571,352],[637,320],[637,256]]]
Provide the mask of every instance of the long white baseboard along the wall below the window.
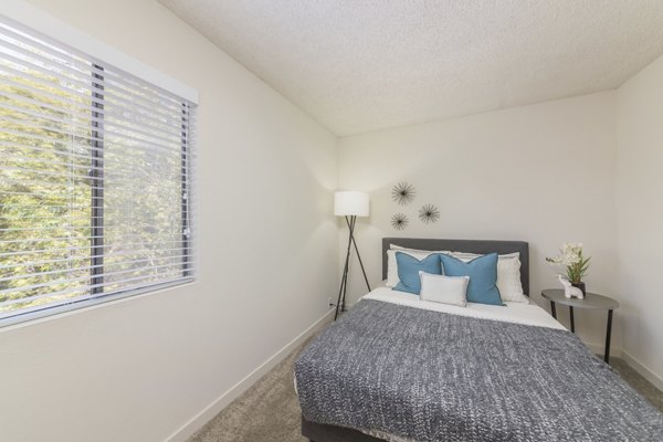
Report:
[[276,351],[274,356],[265,360],[255,370],[249,373],[244,379],[235,383],[230,390],[217,398],[212,403],[207,406],[202,411],[191,418],[187,423],[180,427],[171,435],[166,438],[165,442],[185,442],[189,439],[198,429],[202,428],[209,422],[214,415],[230,404],[240,394],[246,391],[253,383],[262,378],[267,371],[276,367],[287,355],[290,355],[299,344],[306,338],[314,335],[317,330],[323,328],[325,325],[332,322],[334,309],[327,312],[322,318],[316,320],[311,327],[304,330],[299,336],[295,337],[282,349]]

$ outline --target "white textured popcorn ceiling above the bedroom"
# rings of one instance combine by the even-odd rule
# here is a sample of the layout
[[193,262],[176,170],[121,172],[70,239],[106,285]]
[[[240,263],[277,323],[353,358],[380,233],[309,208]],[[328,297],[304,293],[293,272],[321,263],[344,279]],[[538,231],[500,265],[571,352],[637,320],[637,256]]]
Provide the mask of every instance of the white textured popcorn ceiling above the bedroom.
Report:
[[345,136],[621,85],[663,0],[159,0]]

